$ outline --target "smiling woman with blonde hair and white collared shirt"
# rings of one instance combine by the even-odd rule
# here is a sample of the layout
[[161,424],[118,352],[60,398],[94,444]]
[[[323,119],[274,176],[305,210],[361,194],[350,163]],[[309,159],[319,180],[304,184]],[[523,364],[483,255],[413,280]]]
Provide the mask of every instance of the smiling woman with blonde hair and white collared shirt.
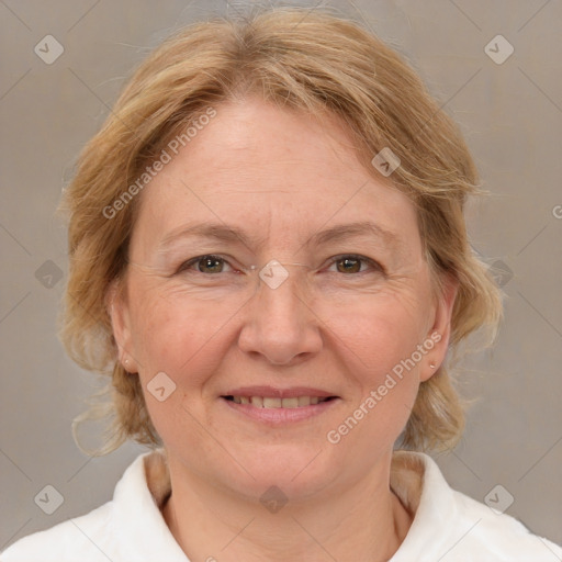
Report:
[[561,559],[419,452],[462,432],[448,350],[501,317],[467,239],[476,182],[357,24],[271,10],[160,46],[66,190],[63,331],[111,376],[103,452],[155,450],[2,560]]

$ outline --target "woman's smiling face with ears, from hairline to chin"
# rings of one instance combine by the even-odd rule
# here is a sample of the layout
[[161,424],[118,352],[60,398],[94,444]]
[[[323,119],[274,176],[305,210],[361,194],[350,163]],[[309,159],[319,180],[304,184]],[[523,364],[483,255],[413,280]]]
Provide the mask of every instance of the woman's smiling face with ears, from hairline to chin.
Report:
[[215,109],[140,195],[121,357],[170,468],[248,497],[345,487],[390,462],[454,288],[432,297],[413,204],[334,119]]

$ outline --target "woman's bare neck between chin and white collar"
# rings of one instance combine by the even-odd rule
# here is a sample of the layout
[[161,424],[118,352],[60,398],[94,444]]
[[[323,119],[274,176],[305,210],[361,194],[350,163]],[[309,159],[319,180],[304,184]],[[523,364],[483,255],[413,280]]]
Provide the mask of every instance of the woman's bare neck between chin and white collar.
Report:
[[162,515],[190,560],[383,562],[396,552],[413,518],[390,490],[389,475],[378,476],[369,473],[345,492],[325,488],[322,497],[291,499],[269,512],[170,467],[173,493]]

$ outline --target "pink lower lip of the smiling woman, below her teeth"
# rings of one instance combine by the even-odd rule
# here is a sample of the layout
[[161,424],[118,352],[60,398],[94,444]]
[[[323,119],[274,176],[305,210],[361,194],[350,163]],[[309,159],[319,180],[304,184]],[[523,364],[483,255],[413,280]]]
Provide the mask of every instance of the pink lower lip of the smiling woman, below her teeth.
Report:
[[[265,389],[263,386],[261,389]],[[254,389],[255,390],[255,389]],[[279,390],[279,389],[278,389]],[[291,389],[291,392],[302,392],[303,389]],[[289,391],[289,389],[286,390]],[[308,389],[311,391],[311,389]],[[238,392],[238,391],[235,391]],[[246,391],[245,391],[246,392]],[[254,392],[254,391],[252,391]],[[268,392],[271,392],[269,390]],[[315,391],[318,392],[318,391]],[[235,394],[240,396],[240,394]],[[241,394],[245,396],[246,394]],[[262,396],[263,394],[250,394],[250,396]],[[291,398],[294,396],[310,396],[311,394],[284,394],[281,397]],[[318,394],[312,394],[313,396],[319,396]],[[266,396],[274,396],[273,394],[267,394]],[[334,394],[325,393],[322,397],[334,396]],[[220,397],[220,402],[224,404],[226,407],[231,408],[235,413],[243,415],[247,418],[254,419],[256,422],[260,422],[261,424],[267,424],[270,426],[279,426],[283,424],[290,424],[295,422],[302,422],[306,419],[311,419],[315,416],[323,414],[324,412],[333,408],[335,405],[340,402],[339,397],[335,397],[334,400],[319,402],[318,404],[311,404],[310,406],[301,406],[297,408],[258,408],[252,406],[251,404],[236,404],[236,402],[232,402],[226,400],[224,396]]]

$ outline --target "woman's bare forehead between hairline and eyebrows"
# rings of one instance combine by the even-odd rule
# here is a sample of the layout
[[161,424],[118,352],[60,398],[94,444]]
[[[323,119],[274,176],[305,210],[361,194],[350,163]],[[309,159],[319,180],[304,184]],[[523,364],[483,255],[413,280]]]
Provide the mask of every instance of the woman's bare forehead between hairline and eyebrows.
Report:
[[371,234],[394,234],[386,241],[418,244],[412,202],[362,167],[336,117],[318,121],[259,99],[215,110],[143,191],[135,232],[160,245],[212,223],[203,228],[211,235],[222,224],[248,239],[302,244],[369,222]]

